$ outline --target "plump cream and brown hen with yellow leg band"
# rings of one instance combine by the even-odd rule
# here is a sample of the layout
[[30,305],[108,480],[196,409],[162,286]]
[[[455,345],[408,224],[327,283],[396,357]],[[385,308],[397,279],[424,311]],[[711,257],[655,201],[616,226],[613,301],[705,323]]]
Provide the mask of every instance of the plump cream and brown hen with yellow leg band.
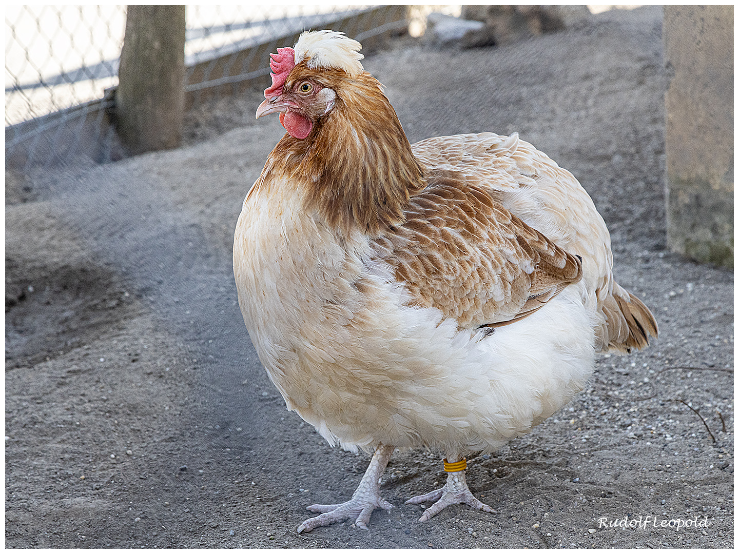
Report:
[[256,117],[287,130],[248,192],[234,276],[270,380],[330,443],[374,451],[352,498],[298,531],[366,528],[392,507],[395,448],[446,454],[420,521],[465,503],[467,455],[531,431],[582,390],[596,352],[657,336],[613,281],[605,222],[568,171],[517,134],[410,145],[361,44],[279,48]]

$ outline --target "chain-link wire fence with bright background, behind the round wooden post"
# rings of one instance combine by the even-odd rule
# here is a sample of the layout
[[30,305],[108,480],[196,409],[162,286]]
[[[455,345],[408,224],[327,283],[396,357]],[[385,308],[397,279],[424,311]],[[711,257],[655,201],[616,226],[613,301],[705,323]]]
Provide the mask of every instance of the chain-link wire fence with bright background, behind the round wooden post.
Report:
[[[269,81],[269,52],[307,29],[331,28],[365,47],[389,33],[423,33],[428,13],[450,7],[188,6],[186,106]],[[410,27],[409,27],[410,24]],[[27,170],[84,156],[120,157],[109,124],[126,29],[123,6],[5,9],[5,160]]]

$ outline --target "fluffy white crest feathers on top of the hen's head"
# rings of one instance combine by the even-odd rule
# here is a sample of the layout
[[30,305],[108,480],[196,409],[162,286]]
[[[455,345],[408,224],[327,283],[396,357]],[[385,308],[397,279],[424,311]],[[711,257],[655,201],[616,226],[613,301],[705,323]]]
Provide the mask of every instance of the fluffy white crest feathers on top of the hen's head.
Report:
[[350,77],[364,71],[359,53],[362,45],[338,31],[305,31],[295,44],[296,65],[308,60],[308,67],[343,69]]

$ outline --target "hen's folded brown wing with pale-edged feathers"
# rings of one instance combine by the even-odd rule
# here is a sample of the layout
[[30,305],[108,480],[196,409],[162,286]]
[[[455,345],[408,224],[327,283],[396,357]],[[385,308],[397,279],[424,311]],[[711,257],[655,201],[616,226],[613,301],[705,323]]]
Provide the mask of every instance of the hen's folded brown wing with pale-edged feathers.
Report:
[[582,277],[581,261],[503,208],[481,185],[433,176],[406,221],[377,239],[413,302],[460,328],[525,317]]

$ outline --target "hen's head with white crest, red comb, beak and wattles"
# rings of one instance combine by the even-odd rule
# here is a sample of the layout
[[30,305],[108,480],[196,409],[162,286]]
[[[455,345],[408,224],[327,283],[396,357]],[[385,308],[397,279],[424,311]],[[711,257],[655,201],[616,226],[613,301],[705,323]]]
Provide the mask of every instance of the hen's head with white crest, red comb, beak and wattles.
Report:
[[343,33],[318,31],[303,33],[295,49],[278,48],[270,54],[272,86],[256,109],[256,118],[279,112],[279,120],[290,136],[304,139],[316,121],[336,106],[336,90],[321,69],[338,69],[353,75],[364,69],[358,53],[361,44]]

